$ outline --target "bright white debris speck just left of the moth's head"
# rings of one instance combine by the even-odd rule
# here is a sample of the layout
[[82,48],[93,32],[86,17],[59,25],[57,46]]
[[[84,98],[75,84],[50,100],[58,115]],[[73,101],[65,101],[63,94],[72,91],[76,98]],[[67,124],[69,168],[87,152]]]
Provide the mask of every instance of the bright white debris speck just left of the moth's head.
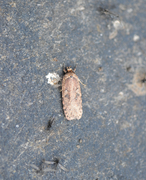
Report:
[[49,73],[46,78],[48,79],[48,84],[57,85],[61,80],[60,76],[57,73]]

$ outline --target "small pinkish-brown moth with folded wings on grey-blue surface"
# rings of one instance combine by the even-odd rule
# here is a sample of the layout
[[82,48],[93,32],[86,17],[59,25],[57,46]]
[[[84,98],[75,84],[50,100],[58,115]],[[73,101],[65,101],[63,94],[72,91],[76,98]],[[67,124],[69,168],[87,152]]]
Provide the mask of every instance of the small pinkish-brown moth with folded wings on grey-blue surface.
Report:
[[67,120],[80,119],[82,117],[82,94],[80,80],[75,70],[67,68],[62,80],[62,103],[64,115]]

